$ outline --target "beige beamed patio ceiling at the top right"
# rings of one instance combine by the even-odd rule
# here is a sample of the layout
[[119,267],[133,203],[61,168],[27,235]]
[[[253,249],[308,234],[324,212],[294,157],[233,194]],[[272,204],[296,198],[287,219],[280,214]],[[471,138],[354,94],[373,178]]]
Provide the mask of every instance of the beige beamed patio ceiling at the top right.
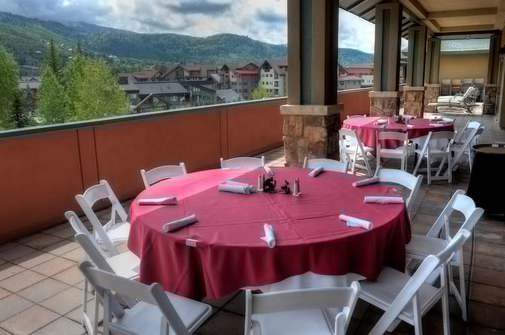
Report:
[[[375,23],[375,5],[382,0],[340,0],[343,10]],[[424,24],[431,36],[465,32],[495,33],[505,22],[505,0],[399,0],[403,5],[401,36]]]

